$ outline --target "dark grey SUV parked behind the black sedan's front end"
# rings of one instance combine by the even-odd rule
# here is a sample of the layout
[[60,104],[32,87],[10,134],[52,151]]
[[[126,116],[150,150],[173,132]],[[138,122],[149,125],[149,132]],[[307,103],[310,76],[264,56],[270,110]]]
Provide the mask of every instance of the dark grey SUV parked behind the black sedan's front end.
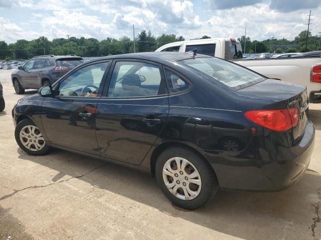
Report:
[[42,86],[51,85],[83,62],[81,57],[75,55],[35,56],[11,74],[12,83],[18,94],[24,93],[25,89],[39,89]]

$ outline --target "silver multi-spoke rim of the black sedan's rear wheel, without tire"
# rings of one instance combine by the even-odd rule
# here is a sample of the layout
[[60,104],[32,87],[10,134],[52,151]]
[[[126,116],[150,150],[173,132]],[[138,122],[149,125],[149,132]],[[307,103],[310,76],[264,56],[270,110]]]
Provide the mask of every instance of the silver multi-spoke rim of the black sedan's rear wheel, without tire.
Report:
[[182,200],[192,200],[202,189],[202,179],[192,162],[172,157],[163,166],[163,180],[169,191]]

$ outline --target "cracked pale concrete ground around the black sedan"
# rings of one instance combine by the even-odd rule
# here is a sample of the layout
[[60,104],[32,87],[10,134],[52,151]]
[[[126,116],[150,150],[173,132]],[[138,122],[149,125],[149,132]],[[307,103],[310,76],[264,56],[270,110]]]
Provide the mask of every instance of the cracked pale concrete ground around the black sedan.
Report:
[[54,149],[23,152],[11,110],[15,93],[0,70],[0,239],[320,239],[321,104],[310,104],[316,144],[309,170],[281,192],[219,191],[205,207],[171,204],[148,174]]

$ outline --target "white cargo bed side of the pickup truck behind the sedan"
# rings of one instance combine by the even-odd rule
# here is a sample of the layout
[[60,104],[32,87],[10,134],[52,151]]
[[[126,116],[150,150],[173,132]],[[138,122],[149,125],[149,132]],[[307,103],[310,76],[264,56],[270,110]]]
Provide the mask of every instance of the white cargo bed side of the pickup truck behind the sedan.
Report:
[[232,61],[269,78],[306,85],[309,101],[321,102],[321,83],[310,81],[311,68],[321,64],[321,57],[236,59]]

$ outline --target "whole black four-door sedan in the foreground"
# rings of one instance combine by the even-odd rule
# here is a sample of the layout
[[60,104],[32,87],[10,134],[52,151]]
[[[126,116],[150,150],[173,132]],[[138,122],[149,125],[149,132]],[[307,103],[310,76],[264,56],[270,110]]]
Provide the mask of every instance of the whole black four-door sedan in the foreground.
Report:
[[155,175],[175,204],[197,208],[219,188],[284,189],[314,143],[304,86],[193,52],[87,61],[18,101],[19,146],[50,147]]

